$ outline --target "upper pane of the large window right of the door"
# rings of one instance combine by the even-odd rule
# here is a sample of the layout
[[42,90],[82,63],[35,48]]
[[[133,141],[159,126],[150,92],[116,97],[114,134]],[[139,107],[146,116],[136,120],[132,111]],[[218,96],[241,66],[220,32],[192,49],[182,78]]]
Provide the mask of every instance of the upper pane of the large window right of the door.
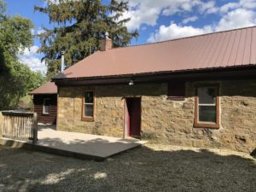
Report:
[[200,104],[216,103],[216,88],[199,87],[197,89]]

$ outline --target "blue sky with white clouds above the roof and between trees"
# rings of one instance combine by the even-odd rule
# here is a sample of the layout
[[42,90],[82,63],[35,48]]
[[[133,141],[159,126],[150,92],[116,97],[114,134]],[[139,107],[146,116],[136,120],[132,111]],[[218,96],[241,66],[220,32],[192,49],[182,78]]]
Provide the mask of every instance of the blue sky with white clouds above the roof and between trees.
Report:
[[[53,0],[54,1],[54,0]],[[108,3],[109,0],[103,0]],[[34,34],[42,32],[42,26],[50,27],[47,15],[34,12],[35,5],[44,6],[42,0],[5,0],[9,15],[21,15],[32,20]],[[127,27],[138,29],[139,38],[131,44],[148,44],[172,38],[182,38],[208,32],[218,32],[256,25],[256,0],[130,0],[131,17]],[[31,49],[20,55],[33,70],[45,73],[46,67],[36,53],[40,43],[34,39]]]

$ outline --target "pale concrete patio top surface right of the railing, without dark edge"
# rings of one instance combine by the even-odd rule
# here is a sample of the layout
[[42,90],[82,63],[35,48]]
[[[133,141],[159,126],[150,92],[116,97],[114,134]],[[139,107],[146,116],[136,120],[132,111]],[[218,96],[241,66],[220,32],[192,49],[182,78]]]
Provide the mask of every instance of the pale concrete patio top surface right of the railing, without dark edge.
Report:
[[146,142],[137,139],[41,129],[38,131],[37,145],[107,158],[143,143]]

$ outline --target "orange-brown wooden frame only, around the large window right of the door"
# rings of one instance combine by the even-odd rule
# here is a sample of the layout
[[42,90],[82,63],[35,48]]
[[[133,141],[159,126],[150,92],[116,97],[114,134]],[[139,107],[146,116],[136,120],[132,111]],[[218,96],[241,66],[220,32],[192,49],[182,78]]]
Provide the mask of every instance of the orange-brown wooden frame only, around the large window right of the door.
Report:
[[[198,96],[198,88],[215,88],[216,89],[216,121],[212,122],[203,122],[199,121],[199,96]],[[219,84],[196,84],[195,85],[195,119],[194,119],[194,127],[198,128],[219,128]]]

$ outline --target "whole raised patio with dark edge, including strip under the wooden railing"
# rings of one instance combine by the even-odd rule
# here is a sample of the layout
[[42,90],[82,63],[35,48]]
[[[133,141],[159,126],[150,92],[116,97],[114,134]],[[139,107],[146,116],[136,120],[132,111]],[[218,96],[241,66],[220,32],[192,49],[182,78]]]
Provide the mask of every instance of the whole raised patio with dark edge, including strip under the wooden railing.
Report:
[[[104,160],[131,148],[147,143],[133,138],[105,137],[77,132],[55,131],[53,127],[39,126],[38,143],[2,139],[2,144],[32,148],[50,154],[73,156],[80,159]],[[0,143],[0,144],[1,144]]]

